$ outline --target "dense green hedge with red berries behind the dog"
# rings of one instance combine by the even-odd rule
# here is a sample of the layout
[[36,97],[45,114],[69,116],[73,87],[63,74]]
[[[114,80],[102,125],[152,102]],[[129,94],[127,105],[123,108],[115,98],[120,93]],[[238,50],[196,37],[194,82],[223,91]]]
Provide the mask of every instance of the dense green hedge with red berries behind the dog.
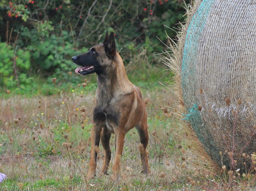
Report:
[[[188,0],[185,3],[189,3]],[[166,32],[175,38],[176,23],[184,21],[182,0],[11,0],[0,1],[0,91],[50,95],[47,83],[57,77],[61,88],[77,83],[69,77],[76,66],[71,57],[101,43],[113,31],[118,50],[129,63],[146,50],[159,64]],[[165,27],[165,26],[166,27]],[[159,39],[157,39],[157,37]],[[80,77],[81,78],[81,77]],[[44,85],[42,85],[44,84]]]

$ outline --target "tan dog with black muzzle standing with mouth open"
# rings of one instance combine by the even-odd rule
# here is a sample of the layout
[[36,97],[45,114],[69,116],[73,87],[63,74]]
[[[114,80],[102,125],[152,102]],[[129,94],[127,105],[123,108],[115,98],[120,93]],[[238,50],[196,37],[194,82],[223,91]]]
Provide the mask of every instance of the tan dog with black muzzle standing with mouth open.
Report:
[[87,53],[72,57],[75,64],[81,66],[76,73],[87,75],[96,72],[98,88],[93,101],[93,128],[91,131],[91,158],[87,179],[96,171],[100,138],[105,150],[101,172],[107,174],[111,151],[109,140],[111,133],[116,136],[115,159],[112,180],[117,179],[120,159],[124,146],[124,136],[136,127],[140,135],[139,151],[143,173],[150,172],[146,148],[148,144],[147,114],[141,91],[127,78],[124,64],[116,52],[114,33],[106,32],[103,44],[95,45]]

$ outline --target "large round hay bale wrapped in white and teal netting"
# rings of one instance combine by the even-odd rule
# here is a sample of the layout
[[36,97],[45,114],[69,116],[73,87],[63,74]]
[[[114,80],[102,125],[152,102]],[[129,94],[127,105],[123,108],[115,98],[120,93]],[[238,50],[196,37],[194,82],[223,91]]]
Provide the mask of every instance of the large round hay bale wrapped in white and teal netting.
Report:
[[219,166],[248,172],[256,163],[256,2],[199,0],[189,13],[165,60],[182,120]]

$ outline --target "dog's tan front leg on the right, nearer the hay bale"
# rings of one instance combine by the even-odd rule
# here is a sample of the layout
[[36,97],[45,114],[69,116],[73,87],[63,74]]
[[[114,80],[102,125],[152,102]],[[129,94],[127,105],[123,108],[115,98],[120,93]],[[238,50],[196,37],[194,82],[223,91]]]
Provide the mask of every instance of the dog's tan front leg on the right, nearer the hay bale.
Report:
[[118,173],[120,170],[120,160],[123,152],[123,147],[124,147],[124,136],[125,132],[123,129],[119,128],[116,134],[116,150],[115,150],[115,159],[114,159],[114,164],[112,167],[113,174],[111,179],[113,181],[116,181],[118,179]]

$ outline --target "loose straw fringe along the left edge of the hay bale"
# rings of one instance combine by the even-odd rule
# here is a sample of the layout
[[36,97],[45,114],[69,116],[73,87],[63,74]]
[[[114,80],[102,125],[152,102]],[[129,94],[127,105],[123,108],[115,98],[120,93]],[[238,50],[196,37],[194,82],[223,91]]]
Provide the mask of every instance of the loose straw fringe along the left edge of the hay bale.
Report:
[[[186,110],[184,105],[184,99],[182,94],[182,87],[181,87],[181,76],[182,76],[182,60],[183,60],[183,52],[184,52],[184,45],[186,41],[187,30],[189,24],[197,11],[198,7],[200,6],[202,0],[194,1],[192,6],[186,7],[187,11],[184,16],[186,16],[186,20],[184,23],[180,23],[179,32],[177,33],[177,41],[171,39],[168,36],[168,47],[165,51],[165,55],[163,56],[162,60],[164,64],[170,68],[170,70],[174,73],[174,76],[171,80],[174,81],[174,93],[177,97],[175,102],[175,112],[174,115],[179,119],[180,123],[177,125],[182,125],[182,129],[184,130],[185,138],[189,141],[189,144],[193,145],[196,148],[197,152],[202,155],[204,158],[209,159],[209,163],[212,164],[213,168],[216,168],[216,164],[210,160],[210,157],[205,152],[202,144],[199,142],[195,132],[191,128],[190,124],[186,123],[182,119],[184,118],[183,114]],[[177,127],[180,129],[180,127]]]

